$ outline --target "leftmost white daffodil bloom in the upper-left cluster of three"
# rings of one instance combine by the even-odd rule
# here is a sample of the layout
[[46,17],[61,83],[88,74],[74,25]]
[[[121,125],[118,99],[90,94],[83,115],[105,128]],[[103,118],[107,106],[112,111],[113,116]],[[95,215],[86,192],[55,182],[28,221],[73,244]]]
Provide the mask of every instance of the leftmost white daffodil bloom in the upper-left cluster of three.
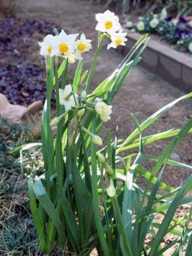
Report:
[[40,55],[53,57],[57,53],[57,43],[53,35],[46,35],[43,42],[38,42]]

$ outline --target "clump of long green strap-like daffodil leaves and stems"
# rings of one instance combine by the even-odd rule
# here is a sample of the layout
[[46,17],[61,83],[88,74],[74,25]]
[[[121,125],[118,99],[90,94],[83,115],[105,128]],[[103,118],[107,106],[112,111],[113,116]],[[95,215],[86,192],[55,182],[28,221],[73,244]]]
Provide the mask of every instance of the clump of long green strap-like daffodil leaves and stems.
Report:
[[[96,60],[105,38],[99,34],[98,48],[92,61],[83,90],[88,93]],[[170,154],[182,139],[191,133],[192,118],[179,130],[164,131],[143,137],[146,130],[173,105],[191,98],[192,93],[182,96],[152,114],[143,123],[139,123],[132,114],[135,131],[121,143],[118,140],[118,126],[114,140],[107,131],[107,145],[99,152],[106,161],[100,163],[96,143],[101,144],[98,134],[102,125],[100,115],[96,113],[96,97],[111,104],[130,71],[141,60],[141,54],[148,42],[143,35],[132,50],[119,64],[112,75],[101,82],[91,95],[78,97],[78,104],[65,113],[60,106],[59,88],[67,85],[67,59],[58,68],[57,57],[47,57],[47,100],[42,114],[42,152],[44,156],[45,177],[38,180],[28,179],[30,206],[42,253],[49,253],[54,246],[67,248],[78,255],[89,255],[97,248],[99,255],[162,255],[170,244],[162,248],[161,241],[166,233],[177,234],[179,242],[175,253],[182,250],[185,242],[191,240],[189,219],[174,217],[180,205],[191,203],[187,196],[192,188],[192,175],[182,187],[173,189],[161,181],[166,165],[185,167],[189,165],[170,160]],[[135,56],[135,57],[133,57]],[[73,93],[78,92],[82,78],[83,59],[80,60],[73,80]],[[58,80],[62,78],[62,81]],[[57,134],[51,131],[51,93],[53,84],[56,89]],[[77,113],[85,109],[84,116]],[[65,114],[64,114],[65,113]],[[164,138],[172,138],[161,156],[144,154],[145,145]],[[39,146],[39,145],[30,145]],[[24,146],[26,147],[26,146]],[[28,148],[22,148],[22,152]],[[137,153],[130,153],[130,149]],[[123,152],[123,156],[121,155]],[[143,160],[155,161],[152,170],[143,167]],[[122,167],[123,165],[123,167]],[[137,178],[143,175],[146,187],[137,185]],[[153,185],[154,184],[154,185]],[[163,194],[159,194],[160,188]],[[155,216],[164,216],[162,223],[154,221]],[[189,216],[189,217],[188,217]],[[184,223],[186,221],[186,223]],[[174,223],[173,225],[171,223]],[[180,231],[182,228],[183,231]],[[146,244],[146,235],[153,239]],[[190,237],[190,238],[189,238]],[[188,245],[186,256],[191,251]]]

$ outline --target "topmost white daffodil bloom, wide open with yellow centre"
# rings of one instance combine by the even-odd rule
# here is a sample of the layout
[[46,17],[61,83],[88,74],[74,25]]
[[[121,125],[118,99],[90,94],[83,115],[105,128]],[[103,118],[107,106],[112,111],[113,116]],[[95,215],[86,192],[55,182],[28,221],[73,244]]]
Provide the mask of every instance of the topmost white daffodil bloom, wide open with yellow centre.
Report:
[[96,14],[96,21],[98,21],[98,24],[95,29],[101,32],[112,33],[121,29],[118,16],[109,10],[104,14]]

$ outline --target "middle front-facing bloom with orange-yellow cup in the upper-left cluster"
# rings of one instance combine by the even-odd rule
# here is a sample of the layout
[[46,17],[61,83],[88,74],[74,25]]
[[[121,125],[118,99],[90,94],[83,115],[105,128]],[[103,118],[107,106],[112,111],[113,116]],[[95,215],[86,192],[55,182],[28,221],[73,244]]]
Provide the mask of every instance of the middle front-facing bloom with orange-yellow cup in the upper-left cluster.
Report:
[[64,30],[59,35],[55,36],[57,42],[57,55],[74,53],[74,41],[78,33],[67,35]]

